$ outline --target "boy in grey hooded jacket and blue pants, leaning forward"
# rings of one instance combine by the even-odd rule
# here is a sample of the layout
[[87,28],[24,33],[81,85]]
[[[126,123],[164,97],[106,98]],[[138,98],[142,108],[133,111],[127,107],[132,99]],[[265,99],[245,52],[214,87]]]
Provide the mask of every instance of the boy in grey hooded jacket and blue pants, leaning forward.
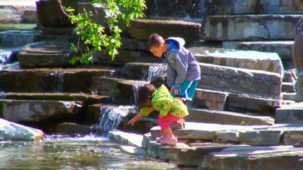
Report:
[[164,40],[160,35],[154,33],[149,36],[147,47],[156,57],[166,56],[167,85],[170,93],[180,101],[193,98],[198,80],[201,79],[201,70],[198,61],[193,54],[183,47],[183,38],[167,38]]

